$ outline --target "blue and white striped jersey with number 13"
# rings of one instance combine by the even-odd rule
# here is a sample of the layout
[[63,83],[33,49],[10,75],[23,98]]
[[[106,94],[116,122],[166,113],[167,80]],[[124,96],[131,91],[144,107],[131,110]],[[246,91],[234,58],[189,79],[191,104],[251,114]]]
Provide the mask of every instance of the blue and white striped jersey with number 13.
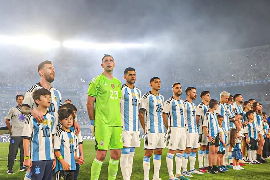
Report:
[[129,88],[126,84],[121,86],[122,99],[120,100],[120,112],[122,130],[139,131],[139,104],[141,102],[141,91],[134,86]]

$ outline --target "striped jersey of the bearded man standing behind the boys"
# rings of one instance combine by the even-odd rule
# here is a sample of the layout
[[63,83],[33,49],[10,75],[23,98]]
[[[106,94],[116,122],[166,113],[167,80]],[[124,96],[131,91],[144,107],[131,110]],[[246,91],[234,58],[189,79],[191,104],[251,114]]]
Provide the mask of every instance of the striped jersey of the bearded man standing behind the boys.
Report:
[[[33,92],[37,89],[43,88],[40,83],[37,83],[33,85],[31,88],[27,90],[25,93],[24,100],[22,102],[21,106],[27,106],[28,108],[35,108],[37,109],[37,105],[33,99]],[[55,116],[56,125],[59,124],[58,122],[58,113],[60,106],[62,105],[62,97],[60,91],[58,91],[56,88],[52,87],[49,90],[51,92],[51,105],[48,108],[48,112]]]

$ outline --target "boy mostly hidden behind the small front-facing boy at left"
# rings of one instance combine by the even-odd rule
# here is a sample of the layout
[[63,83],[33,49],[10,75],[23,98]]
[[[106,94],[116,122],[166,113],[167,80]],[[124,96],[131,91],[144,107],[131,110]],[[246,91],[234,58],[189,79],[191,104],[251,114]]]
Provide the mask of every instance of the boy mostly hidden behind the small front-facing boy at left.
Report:
[[[75,115],[75,119],[77,117],[77,108],[74,104],[71,103],[65,103],[62,106],[60,106],[60,109],[71,109]],[[58,124],[57,125],[57,131],[62,127],[62,124]],[[75,133],[74,131],[74,127],[70,127],[70,130]],[[82,159],[82,161],[84,162],[84,158],[83,158],[83,138],[82,138],[82,134],[81,131],[79,132],[79,134],[76,136],[76,149],[77,149],[77,156],[80,157],[80,159]],[[74,173],[74,180],[77,180],[78,175],[79,175],[79,170],[80,170],[80,165],[78,163],[76,163],[76,170]]]

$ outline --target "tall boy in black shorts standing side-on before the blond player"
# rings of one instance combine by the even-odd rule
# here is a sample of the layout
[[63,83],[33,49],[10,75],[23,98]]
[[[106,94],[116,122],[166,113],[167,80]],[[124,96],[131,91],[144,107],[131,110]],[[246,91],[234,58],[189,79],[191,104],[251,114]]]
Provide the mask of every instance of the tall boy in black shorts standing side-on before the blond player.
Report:
[[209,146],[208,173],[215,174],[217,172],[223,172],[222,170],[219,170],[217,168],[217,156],[219,147],[219,126],[218,126],[218,118],[214,111],[218,108],[218,101],[210,100],[208,106],[209,110],[206,112],[203,121],[203,131],[205,132],[205,135],[208,138],[208,146]]

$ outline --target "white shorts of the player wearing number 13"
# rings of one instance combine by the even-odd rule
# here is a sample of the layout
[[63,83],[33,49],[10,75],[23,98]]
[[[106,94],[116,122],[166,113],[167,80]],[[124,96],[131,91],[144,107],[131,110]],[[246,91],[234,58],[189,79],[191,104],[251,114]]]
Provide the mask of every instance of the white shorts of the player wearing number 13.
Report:
[[140,147],[140,131],[122,131],[124,147]]

